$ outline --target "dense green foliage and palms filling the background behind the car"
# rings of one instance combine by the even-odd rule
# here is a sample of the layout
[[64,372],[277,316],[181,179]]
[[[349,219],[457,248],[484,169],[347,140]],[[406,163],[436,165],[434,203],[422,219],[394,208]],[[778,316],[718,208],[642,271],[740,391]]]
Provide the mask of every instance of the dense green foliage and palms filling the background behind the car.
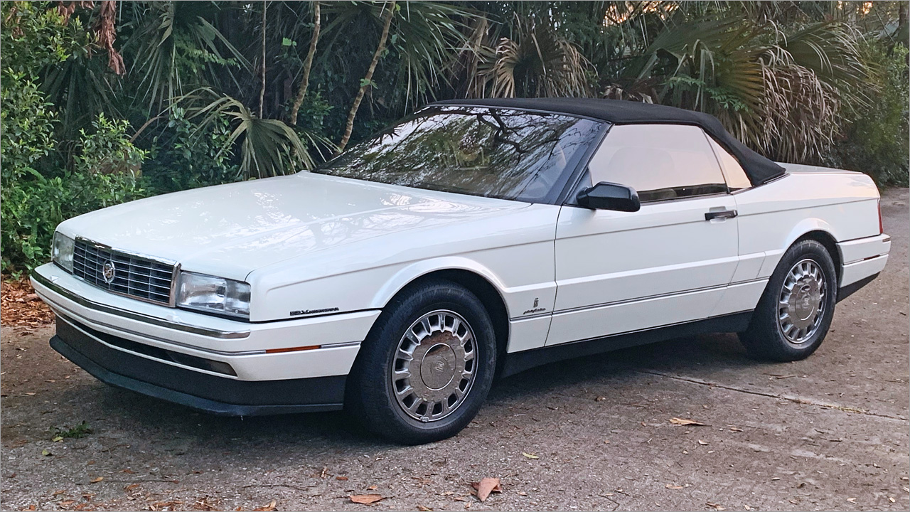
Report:
[[61,220],[309,169],[437,98],[710,112],[907,183],[905,2],[4,2],[3,271]]

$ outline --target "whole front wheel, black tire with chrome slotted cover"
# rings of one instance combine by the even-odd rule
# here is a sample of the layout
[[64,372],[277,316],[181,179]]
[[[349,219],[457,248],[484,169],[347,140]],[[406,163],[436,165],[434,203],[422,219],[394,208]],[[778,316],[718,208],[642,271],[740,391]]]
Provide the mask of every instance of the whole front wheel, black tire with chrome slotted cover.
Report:
[[470,423],[495,368],[496,337],[480,300],[454,282],[426,282],[390,302],[370,331],[345,406],[399,443],[438,441]]

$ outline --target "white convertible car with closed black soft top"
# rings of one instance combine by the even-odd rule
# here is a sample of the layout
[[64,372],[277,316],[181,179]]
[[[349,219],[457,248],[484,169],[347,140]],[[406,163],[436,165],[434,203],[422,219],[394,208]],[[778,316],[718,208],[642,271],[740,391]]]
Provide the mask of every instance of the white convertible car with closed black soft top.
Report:
[[858,172],[777,164],[710,116],[435,103],[311,172],[95,211],[32,274],[51,346],[223,415],[351,411],[455,435],[494,375],[693,333],[794,361],[887,260]]

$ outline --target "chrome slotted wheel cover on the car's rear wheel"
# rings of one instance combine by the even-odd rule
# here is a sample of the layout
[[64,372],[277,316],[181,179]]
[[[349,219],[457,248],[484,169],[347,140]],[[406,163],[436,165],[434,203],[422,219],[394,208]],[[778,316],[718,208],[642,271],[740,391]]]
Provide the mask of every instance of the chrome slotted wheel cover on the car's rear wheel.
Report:
[[777,326],[784,339],[802,345],[818,331],[825,313],[825,275],[814,260],[796,263],[777,301]]

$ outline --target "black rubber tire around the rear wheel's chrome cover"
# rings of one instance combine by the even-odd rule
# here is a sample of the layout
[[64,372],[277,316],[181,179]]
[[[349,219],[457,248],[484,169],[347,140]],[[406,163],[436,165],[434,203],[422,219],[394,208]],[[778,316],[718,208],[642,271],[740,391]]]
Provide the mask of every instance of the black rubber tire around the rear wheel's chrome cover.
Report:
[[[796,343],[784,333],[784,327],[779,322],[782,310],[778,304],[787,276],[797,263],[803,264],[804,261],[813,262],[824,276],[824,285],[818,287],[818,290],[824,290],[824,297],[820,301],[823,309],[818,315],[817,324],[806,328],[805,339]],[[755,308],[748,329],[739,333],[739,339],[746,351],[756,359],[782,362],[804,359],[814,353],[824,341],[834,318],[836,295],[837,272],[831,254],[817,241],[798,241],[784,252],[784,257],[774,269],[762,299]],[[809,329],[814,329],[814,332]]]

